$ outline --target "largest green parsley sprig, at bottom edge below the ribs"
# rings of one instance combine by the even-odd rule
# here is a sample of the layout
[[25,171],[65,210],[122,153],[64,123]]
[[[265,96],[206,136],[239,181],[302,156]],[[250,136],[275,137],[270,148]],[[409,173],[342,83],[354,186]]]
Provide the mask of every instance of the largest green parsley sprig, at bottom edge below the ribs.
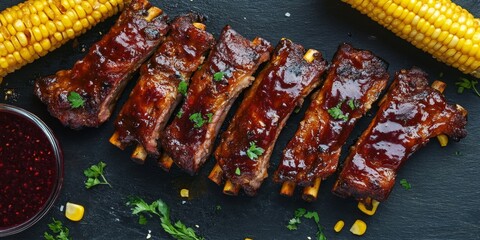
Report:
[[127,202],[127,206],[132,207],[132,214],[138,215],[140,218],[143,216],[144,220],[142,220],[142,222],[147,222],[145,215],[159,217],[163,230],[175,239],[204,240],[203,237],[197,236],[192,228],[185,226],[182,222],[177,221],[172,224],[170,220],[170,209],[161,199],[148,204],[143,199],[135,197]]

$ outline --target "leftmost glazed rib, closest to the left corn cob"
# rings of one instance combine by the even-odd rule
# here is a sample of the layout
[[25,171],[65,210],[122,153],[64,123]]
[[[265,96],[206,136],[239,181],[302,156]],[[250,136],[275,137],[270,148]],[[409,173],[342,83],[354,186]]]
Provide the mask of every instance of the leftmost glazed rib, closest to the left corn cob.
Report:
[[[62,124],[74,129],[97,127],[111,115],[127,81],[163,41],[166,15],[146,0],[134,0],[118,21],[72,69],[38,79],[35,94]],[[71,108],[67,96],[85,100]]]

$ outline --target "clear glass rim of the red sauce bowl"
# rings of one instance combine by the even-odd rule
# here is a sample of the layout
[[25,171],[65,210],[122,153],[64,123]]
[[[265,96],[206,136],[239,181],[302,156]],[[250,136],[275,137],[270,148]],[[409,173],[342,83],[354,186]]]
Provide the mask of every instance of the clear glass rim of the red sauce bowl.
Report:
[[57,168],[56,181],[52,187],[50,196],[48,197],[45,204],[41,207],[41,209],[35,215],[33,215],[27,221],[11,227],[0,228],[0,237],[6,237],[30,228],[35,223],[40,221],[40,219],[42,219],[48,213],[48,211],[52,208],[53,204],[55,203],[58,196],[60,195],[60,191],[63,185],[64,159],[63,159],[63,151],[58,139],[55,137],[55,135],[53,134],[53,131],[47,126],[47,124],[45,124],[45,122],[43,122],[38,116],[36,116],[35,114],[23,108],[13,106],[10,104],[5,104],[5,103],[0,103],[0,112],[8,112],[8,113],[16,114],[19,117],[23,117],[24,119],[30,121],[35,126],[40,128],[40,130],[45,134],[45,136],[50,142],[50,145],[52,146],[52,149],[55,154],[55,160],[56,160],[55,162],[56,162],[56,168]]

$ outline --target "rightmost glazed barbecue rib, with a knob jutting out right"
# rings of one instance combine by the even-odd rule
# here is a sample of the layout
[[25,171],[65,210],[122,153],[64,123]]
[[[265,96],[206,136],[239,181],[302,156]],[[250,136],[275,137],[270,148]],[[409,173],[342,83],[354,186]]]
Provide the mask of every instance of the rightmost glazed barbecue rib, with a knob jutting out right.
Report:
[[333,192],[360,201],[384,201],[400,166],[430,138],[466,136],[466,111],[446,103],[419,69],[402,70],[368,129],[347,157]]

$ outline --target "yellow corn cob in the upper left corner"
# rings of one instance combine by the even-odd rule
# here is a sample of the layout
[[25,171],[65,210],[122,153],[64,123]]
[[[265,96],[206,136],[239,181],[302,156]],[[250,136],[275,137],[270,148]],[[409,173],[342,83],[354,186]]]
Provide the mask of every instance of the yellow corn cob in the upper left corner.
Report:
[[2,78],[121,11],[130,0],[28,0],[0,13]]

